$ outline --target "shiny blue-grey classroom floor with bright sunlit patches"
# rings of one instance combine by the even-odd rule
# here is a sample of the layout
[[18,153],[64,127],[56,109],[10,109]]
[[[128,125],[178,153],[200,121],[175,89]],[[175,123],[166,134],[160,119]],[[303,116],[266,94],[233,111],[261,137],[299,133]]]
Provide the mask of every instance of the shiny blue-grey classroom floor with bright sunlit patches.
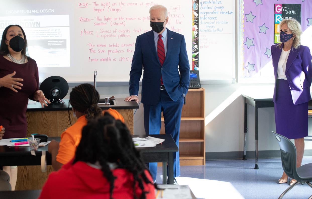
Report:
[[[312,158],[303,158],[302,164],[312,163]],[[254,169],[255,160],[214,160],[205,166],[181,166],[179,184],[188,184],[198,198],[246,198],[272,199],[289,187],[278,184],[283,168],[280,158],[259,159],[259,170]],[[312,169],[312,167],[311,167]],[[162,182],[162,167],[157,170],[157,182]],[[296,185],[283,199],[303,199],[312,195],[307,185]]]

